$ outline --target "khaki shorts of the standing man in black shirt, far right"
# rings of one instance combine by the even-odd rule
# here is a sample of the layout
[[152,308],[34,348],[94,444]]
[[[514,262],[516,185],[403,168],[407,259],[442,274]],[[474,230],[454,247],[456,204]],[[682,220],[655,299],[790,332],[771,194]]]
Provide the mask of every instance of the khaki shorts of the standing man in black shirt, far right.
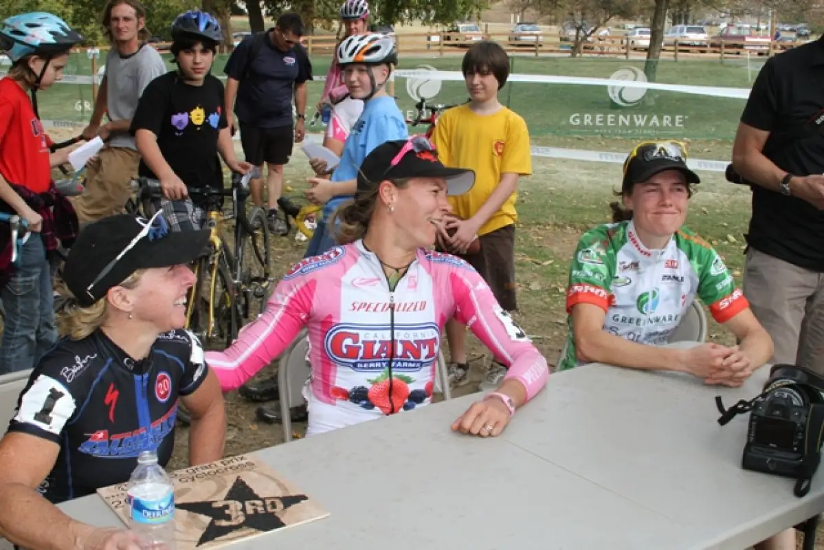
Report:
[[744,296],[772,338],[770,363],[798,364],[824,375],[824,273],[749,247]]

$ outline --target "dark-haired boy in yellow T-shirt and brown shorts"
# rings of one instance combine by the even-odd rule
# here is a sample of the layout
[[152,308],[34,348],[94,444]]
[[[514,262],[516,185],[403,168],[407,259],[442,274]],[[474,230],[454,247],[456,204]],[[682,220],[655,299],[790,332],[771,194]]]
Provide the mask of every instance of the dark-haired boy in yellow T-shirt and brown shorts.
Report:
[[[500,104],[498,92],[509,76],[509,56],[494,42],[479,42],[464,56],[461,72],[471,101],[443,113],[433,134],[438,157],[447,167],[471,168],[475,186],[449,197],[456,219],[438,235],[438,247],[463,257],[489,284],[501,308],[517,311],[515,299],[515,223],[517,181],[532,173],[527,123]],[[447,230],[455,230],[452,237]],[[451,231],[450,231],[451,233]],[[466,255],[475,237],[480,251]],[[451,363],[449,378],[463,383],[466,328],[447,322]],[[497,387],[506,368],[493,363],[481,388]]]

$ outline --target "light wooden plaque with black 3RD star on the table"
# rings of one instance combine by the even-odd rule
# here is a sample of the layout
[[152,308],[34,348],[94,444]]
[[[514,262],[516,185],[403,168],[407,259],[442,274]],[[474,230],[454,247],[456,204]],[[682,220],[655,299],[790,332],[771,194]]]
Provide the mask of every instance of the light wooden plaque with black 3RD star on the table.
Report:
[[[178,550],[228,543],[329,515],[257,458],[238,455],[169,472],[175,485]],[[126,524],[126,483],[97,492]]]

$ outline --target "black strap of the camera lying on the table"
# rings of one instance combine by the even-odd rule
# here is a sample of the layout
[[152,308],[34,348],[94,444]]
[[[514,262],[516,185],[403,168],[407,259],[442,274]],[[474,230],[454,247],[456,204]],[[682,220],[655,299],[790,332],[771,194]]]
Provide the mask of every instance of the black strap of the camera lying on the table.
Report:
[[[765,397],[767,393],[770,393],[772,390],[779,387],[798,388],[799,391],[804,393],[806,393],[806,390],[804,389],[805,387],[812,387],[819,392],[824,392],[824,388],[821,388],[820,384],[808,379],[806,383],[782,380],[780,383],[769,385],[763,393],[753,397],[751,400],[745,401],[742,399],[733,405],[733,407],[729,407],[728,409],[723,406],[721,396],[715,396],[715,405],[721,412],[721,416],[718,420],[719,424],[725,425],[729,421],[733,420],[735,416],[751,411],[752,407],[755,406],[756,401],[762,397]],[[801,468],[798,473],[798,477],[796,478],[794,487],[795,496],[805,496],[810,490],[812,476],[815,475],[818,469],[818,464],[821,461],[822,441],[824,441],[824,402],[814,402],[810,405],[807,421],[807,432],[804,435],[804,454],[801,459]]]

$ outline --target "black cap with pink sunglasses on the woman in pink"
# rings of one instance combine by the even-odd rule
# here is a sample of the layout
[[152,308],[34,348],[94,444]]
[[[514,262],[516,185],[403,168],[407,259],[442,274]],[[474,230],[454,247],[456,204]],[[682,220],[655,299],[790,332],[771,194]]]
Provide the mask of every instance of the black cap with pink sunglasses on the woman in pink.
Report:
[[[398,158],[404,148],[407,150]],[[372,149],[358,170],[358,191],[372,190],[384,180],[410,177],[443,178],[447,181],[447,195],[463,195],[475,185],[474,171],[443,166],[435,146],[424,136],[413,136],[387,141]]]

